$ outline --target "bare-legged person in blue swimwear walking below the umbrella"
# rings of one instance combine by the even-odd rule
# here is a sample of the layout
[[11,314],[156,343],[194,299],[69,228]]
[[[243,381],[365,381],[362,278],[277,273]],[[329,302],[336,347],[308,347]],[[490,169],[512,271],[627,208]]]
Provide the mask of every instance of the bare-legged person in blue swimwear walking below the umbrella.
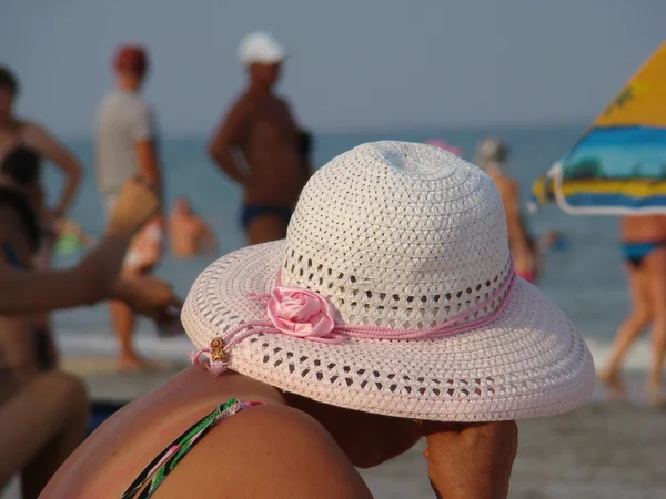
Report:
[[652,363],[646,390],[652,405],[663,405],[666,356],[666,215],[624,216],[619,238],[628,281],[632,310],[615,335],[599,379],[615,397],[623,396],[622,363],[643,330],[652,325]]

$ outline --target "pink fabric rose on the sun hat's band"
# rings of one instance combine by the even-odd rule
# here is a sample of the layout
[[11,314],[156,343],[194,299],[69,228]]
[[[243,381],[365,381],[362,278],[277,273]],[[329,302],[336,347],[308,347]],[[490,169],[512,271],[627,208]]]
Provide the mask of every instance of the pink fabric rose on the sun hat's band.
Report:
[[266,312],[273,326],[289,336],[322,337],[335,327],[329,301],[303,287],[274,287]]

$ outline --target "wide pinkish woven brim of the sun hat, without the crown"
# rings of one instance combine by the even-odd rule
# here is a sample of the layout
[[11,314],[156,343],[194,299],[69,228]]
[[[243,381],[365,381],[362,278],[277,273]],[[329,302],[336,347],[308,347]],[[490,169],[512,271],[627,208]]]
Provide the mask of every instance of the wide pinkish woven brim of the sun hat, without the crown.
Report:
[[[249,294],[269,293],[284,241],[214,262],[196,279],[182,322],[196,348],[241,323],[265,320]],[[313,400],[365,413],[438,421],[548,416],[584,404],[589,352],[566,316],[518,278],[491,325],[426,340],[350,339],[324,345],[258,334],[233,347],[230,368]]]

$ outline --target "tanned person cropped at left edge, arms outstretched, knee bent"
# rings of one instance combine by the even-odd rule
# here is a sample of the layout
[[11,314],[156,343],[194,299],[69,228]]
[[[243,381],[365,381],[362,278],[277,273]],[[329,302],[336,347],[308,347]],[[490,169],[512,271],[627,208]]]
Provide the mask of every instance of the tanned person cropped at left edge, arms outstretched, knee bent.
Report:
[[[132,236],[158,208],[151,191],[130,181],[119,195],[104,236],[71,269],[34,269],[42,243],[38,215],[27,194],[0,186],[0,489],[21,473],[24,498],[37,498],[67,457],[83,441],[88,398],[81,380],[40,373],[30,348],[20,352],[9,333],[27,337],[29,314],[91,305],[114,297],[155,319],[180,307],[171,286],[152,278],[119,278]],[[18,346],[18,350],[17,347]],[[17,358],[14,354],[23,355]]]

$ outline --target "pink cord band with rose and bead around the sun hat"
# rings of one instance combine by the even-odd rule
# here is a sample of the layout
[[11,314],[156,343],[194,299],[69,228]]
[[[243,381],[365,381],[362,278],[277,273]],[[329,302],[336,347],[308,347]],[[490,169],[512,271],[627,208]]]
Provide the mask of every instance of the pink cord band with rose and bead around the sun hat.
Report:
[[[421,329],[398,329],[381,326],[345,325],[335,323],[333,305],[319,293],[304,287],[282,286],[278,276],[275,287],[263,295],[248,295],[246,298],[265,304],[268,320],[253,320],[239,325],[226,332],[224,337],[213,338],[211,345],[190,354],[192,364],[199,364],[202,354],[209,354],[206,367],[213,375],[220,375],[229,366],[228,356],[231,348],[249,336],[264,334],[282,334],[309,342],[340,345],[351,338],[362,339],[432,339],[451,336],[483,327],[494,322],[509,302],[516,281],[513,261],[502,284],[487,299],[480,302],[464,314],[453,317],[435,326]],[[500,306],[491,314],[467,320],[493,302],[502,299]],[[465,322],[466,320],[466,322]],[[463,324],[460,324],[464,322]]]

